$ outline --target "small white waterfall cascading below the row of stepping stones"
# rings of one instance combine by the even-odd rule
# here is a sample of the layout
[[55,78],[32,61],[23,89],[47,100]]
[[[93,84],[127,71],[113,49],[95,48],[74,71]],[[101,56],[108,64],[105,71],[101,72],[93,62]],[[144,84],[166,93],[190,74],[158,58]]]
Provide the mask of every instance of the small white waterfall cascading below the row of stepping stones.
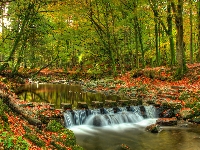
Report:
[[127,111],[126,107],[118,107],[117,112],[113,108],[102,109],[83,109],[64,112],[65,126],[74,125],[93,125],[107,126],[122,123],[136,123],[144,118],[156,118],[156,109],[154,106],[131,106]]

